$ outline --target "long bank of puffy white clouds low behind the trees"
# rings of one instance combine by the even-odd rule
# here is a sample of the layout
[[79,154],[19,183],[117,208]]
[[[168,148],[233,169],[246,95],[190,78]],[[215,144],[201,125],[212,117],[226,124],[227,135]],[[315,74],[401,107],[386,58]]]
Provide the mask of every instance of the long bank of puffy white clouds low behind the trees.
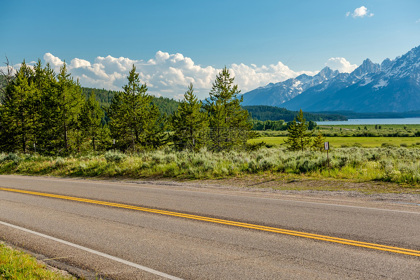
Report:
[[[49,63],[56,73],[64,63],[63,59],[51,53],[45,53],[43,59],[43,64]],[[135,65],[141,83],[147,84],[149,94],[175,100],[183,99],[189,83],[193,84],[194,94],[199,99],[208,97],[212,83],[221,71],[212,66],[195,65],[191,58],[183,54],[169,54],[162,51],[158,51],[154,58],[148,60],[98,56],[93,62],[80,58],[73,58],[70,63],[67,59],[65,61],[68,72],[75,80],[79,79],[82,86],[112,90],[122,90],[127,83],[128,72],[132,65]],[[19,69],[20,65],[14,67]],[[303,73],[311,76],[317,73],[317,71],[293,71],[281,62],[271,65],[232,64],[229,68],[231,76],[235,77],[234,83],[238,85],[241,93]]]

